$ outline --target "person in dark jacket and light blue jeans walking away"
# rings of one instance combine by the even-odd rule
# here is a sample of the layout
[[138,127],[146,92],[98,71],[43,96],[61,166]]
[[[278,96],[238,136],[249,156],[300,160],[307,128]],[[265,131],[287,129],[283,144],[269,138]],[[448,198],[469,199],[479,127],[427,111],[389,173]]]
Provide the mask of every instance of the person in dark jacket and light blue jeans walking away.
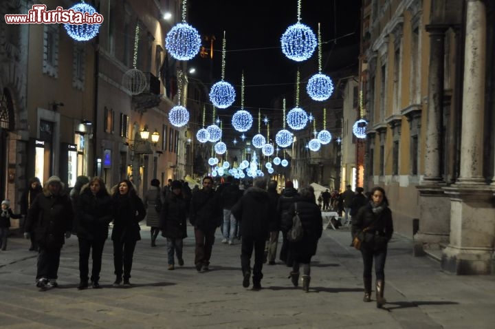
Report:
[[237,231],[237,219],[232,215],[230,209],[241,198],[239,187],[234,183],[232,176],[227,177],[227,182],[223,184],[221,192],[221,204],[223,208],[223,240],[222,243],[234,244],[234,237]]

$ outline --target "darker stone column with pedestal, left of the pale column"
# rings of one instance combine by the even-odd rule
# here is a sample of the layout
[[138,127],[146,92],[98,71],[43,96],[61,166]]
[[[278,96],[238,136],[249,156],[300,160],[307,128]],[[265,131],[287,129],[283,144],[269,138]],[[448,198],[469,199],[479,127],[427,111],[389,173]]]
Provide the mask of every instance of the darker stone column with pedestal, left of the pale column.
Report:
[[414,237],[414,255],[425,251],[439,251],[448,244],[450,231],[450,200],[443,192],[441,176],[443,148],[443,61],[447,25],[426,25],[430,34],[430,62],[428,75],[428,109],[426,112],[426,149],[424,177],[417,186],[419,191],[419,231]]

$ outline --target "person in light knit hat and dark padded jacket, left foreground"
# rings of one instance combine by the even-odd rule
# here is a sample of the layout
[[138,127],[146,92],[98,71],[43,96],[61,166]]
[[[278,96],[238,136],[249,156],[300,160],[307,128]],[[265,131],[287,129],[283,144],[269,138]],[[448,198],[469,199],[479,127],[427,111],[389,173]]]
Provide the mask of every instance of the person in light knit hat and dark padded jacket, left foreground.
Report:
[[41,289],[56,287],[61,248],[72,231],[74,212],[72,203],[57,176],[48,178],[43,193],[39,194],[28,211],[25,237],[36,230],[39,245],[36,286]]

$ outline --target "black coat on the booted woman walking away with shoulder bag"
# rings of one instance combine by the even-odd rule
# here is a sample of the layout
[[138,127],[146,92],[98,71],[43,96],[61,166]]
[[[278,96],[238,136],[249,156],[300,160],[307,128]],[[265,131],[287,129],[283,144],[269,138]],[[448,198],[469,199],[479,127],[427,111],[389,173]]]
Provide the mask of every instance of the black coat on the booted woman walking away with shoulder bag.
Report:
[[[316,247],[318,246],[318,240],[323,232],[323,220],[320,211],[320,207],[316,205],[313,200],[300,200],[294,202],[297,204],[297,211],[299,213],[299,219],[301,225],[303,225],[303,239],[298,242],[289,242],[289,248],[291,255],[294,259],[307,258],[316,255]],[[291,204],[289,209],[289,215],[294,217],[295,206]],[[292,222],[289,229],[292,227]]]

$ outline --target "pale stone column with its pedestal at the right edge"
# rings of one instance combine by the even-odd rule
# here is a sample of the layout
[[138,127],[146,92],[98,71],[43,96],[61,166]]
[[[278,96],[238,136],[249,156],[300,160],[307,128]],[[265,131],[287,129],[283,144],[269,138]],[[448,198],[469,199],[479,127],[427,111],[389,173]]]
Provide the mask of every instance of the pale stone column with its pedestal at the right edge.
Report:
[[465,70],[461,127],[460,178],[450,195],[450,242],[441,266],[456,274],[494,271],[494,189],[483,178],[485,111],[486,8],[481,0],[466,1]]

